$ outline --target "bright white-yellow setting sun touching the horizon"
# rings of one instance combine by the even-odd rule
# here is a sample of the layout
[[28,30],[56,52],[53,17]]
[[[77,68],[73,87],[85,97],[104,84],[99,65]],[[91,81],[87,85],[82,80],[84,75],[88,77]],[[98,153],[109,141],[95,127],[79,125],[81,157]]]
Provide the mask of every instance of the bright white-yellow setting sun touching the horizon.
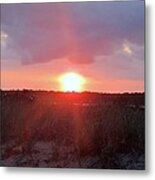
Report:
[[68,72],[60,77],[61,89],[63,91],[82,91],[85,79],[75,72]]

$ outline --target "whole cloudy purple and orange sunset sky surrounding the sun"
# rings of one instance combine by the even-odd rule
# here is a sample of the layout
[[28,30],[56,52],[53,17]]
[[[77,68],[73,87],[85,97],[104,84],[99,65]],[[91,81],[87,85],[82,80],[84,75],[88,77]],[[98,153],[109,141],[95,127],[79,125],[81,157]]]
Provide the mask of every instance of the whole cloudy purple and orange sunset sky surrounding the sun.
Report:
[[144,1],[1,5],[1,88],[144,91]]

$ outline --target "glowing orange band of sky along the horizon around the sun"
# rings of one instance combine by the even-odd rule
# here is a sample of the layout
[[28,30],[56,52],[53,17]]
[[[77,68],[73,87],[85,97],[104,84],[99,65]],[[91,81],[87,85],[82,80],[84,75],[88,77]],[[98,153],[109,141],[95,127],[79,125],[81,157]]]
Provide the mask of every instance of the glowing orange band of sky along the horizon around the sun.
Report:
[[[64,66],[61,66],[64,61]],[[55,63],[55,64],[54,64]],[[60,64],[59,64],[60,63]],[[113,79],[111,77],[99,76],[93,70],[87,67],[77,68],[76,65],[69,65],[67,59],[57,60],[55,62],[27,65],[18,65],[18,71],[2,70],[1,86],[4,89],[44,89],[61,90],[62,84],[59,77],[67,72],[75,72],[85,78],[83,91],[97,92],[136,92],[144,91],[143,80]],[[54,66],[55,70],[50,70]],[[58,70],[61,67],[60,70]],[[94,75],[93,75],[94,74]]]

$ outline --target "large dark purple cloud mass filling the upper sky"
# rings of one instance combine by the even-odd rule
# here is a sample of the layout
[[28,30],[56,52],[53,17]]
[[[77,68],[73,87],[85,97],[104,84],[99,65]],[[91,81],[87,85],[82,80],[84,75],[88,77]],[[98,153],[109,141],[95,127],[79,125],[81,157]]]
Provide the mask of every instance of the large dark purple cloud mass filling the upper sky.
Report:
[[143,1],[3,4],[1,9],[3,29],[13,40],[7,48],[20,54],[22,64],[62,57],[90,64],[125,39],[144,43]]

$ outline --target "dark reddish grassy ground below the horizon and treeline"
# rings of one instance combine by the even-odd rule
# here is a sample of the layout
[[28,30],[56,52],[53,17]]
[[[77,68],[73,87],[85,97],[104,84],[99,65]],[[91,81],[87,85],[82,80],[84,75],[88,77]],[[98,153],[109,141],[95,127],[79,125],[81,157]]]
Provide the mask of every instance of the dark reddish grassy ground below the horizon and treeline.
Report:
[[3,166],[145,168],[144,93],[0,93]]

